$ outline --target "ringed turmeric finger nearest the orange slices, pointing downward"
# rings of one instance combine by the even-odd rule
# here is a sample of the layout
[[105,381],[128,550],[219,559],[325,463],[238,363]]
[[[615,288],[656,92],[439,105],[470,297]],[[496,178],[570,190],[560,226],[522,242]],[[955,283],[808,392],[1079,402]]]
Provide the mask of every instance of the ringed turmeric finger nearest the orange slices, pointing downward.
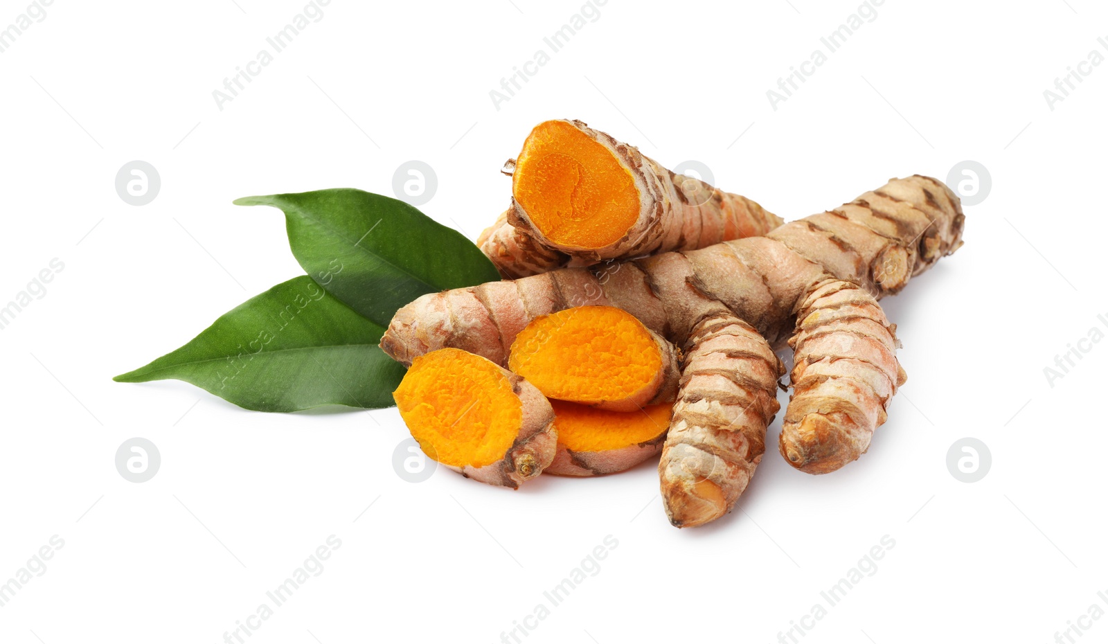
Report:
[[735,507],[766,452],[784,367],[750,325],[730,311],[694,328],[658,477],[669,522],[714,521]]

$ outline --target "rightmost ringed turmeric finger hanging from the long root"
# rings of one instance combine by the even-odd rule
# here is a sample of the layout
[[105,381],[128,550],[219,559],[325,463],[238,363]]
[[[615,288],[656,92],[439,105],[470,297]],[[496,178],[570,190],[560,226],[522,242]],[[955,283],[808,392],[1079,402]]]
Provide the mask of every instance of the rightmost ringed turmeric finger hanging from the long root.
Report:
[[792,397],[779,441],[792,467],[822,474],[869,449],[906,378],[895,331],[878,301],[852,283],[828,280],[803,299],[789,340]]

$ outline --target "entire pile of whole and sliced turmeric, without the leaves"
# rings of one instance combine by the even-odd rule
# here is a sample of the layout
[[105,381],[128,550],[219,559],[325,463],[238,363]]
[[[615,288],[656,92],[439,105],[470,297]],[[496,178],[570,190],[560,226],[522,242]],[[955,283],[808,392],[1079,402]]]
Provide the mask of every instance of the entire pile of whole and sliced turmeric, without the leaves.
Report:
[[784,224],[579,121],[527,136],[509,209],[478,241],[504,280],[429,294],[381,348],[423,451],[516,488],[661,452],[669,521],[733,508],[766,451],[793,350],[778,448],[809,473],[869,448],[905,380],[878,300],[962,245],[957,196],[894,178]]

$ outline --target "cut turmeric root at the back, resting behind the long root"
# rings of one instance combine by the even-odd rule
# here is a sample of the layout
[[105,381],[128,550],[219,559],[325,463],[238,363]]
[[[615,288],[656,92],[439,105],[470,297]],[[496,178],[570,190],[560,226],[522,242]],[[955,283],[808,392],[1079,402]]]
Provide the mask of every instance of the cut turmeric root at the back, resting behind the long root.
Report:
[[507,278],[701,248],[782,223],[581,121],[540,123],[509,166],[512,205],[478,239]]

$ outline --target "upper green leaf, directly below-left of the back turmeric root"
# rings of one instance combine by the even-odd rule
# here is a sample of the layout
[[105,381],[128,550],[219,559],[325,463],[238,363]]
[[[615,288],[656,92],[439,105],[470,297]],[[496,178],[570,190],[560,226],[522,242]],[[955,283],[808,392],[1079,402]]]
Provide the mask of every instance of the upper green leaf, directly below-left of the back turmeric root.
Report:
[[284,211],[300,266],[381,326],[425,293],[500,279],[492,262],[461,233],[399,200],[336,188],[235,203]]

